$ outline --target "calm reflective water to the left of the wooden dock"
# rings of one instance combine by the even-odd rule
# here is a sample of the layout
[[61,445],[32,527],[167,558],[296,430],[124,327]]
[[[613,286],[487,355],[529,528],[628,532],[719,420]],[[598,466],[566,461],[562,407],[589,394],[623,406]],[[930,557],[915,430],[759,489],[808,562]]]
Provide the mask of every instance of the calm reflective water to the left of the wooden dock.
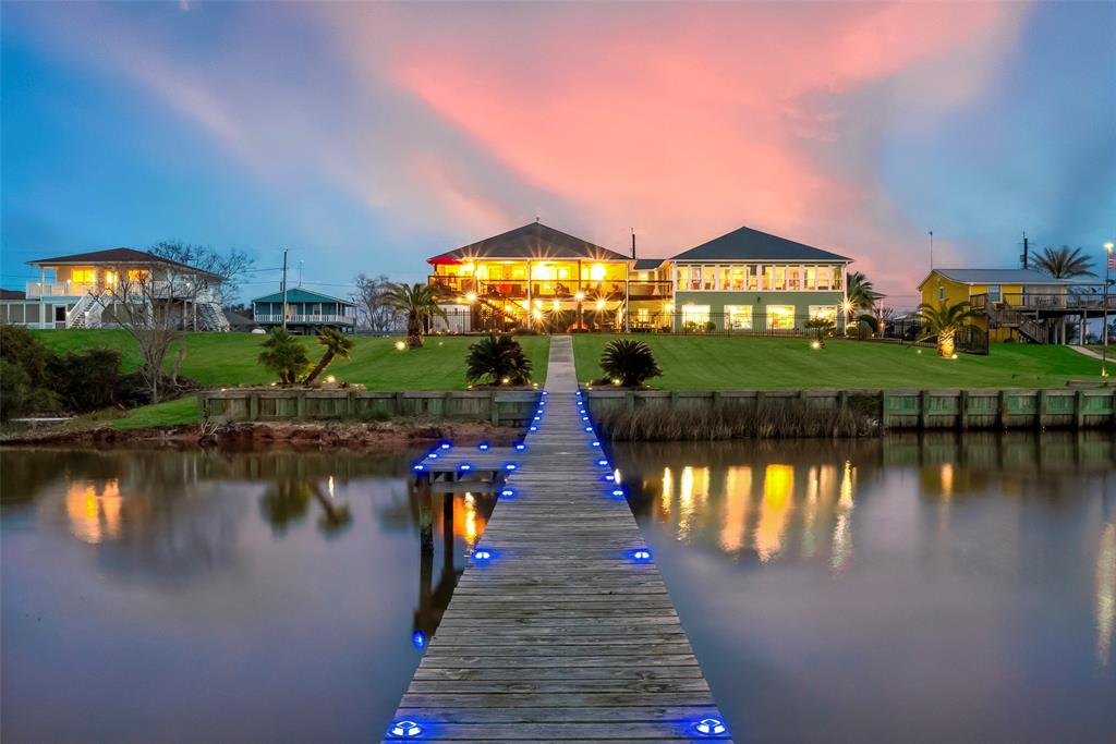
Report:
[[0,738],[377,736],[492,505],[423,560],[412,457],[0,452]]

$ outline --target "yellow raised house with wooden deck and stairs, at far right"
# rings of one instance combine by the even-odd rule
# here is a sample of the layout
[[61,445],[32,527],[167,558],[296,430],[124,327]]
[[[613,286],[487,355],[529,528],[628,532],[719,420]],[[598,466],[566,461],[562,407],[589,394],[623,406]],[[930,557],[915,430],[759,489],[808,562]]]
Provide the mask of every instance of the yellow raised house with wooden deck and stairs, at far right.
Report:
[[934,269],[918,292],[932,306],[969,302],[979,311],[973,325],[992,341],[1058,342],[1062,319],[1103,306],[1099,288],[1089,282],[1051,279],[1031,269]]

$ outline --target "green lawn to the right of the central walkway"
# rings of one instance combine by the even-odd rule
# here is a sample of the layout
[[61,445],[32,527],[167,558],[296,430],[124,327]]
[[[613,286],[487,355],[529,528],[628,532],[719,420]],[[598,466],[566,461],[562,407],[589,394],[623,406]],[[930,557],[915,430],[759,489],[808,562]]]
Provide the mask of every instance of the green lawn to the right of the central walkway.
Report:
[[[615,336],[576,336],[577,377],[600,377],[605,344]],[[636,336],[655,352],[667,390],[949,387],[1061,387],[1100,378],[1100,364],[1057,346],[994,344],[987,357],[940,359],[933,349],[830,340],[809,348],[800,338]]]

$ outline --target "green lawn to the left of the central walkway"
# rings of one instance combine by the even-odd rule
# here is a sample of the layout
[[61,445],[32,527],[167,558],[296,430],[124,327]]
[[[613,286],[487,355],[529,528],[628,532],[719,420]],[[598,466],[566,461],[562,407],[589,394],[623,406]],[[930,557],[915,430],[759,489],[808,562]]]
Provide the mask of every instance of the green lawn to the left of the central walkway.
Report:
[[[140,366],[140,348],[126,331],[117,329],[40,330],[35,331],[55,351],[108,346],[121,351],[125,371]],[[300,338],[309,349],[311,360],[320,357],[316,339]],[[475,338],[431,337],[421,349],[400,351],[398,338],[354,337],[352,359],[335,361],[329,375],[347,383],[360,383],[369,390],[463,390],[465,389],[465,356]],[[205,387],[263,385],[275,377],[257,363],[263,337],[252,334],[190,334],[182,374]],[[519,342],[531,360],[533,377],[547,376],[550,339],[547,336],[520,336]],[[177,354],[172,347],[166,356],[166,369]],[[172,426],[198,422],[198,403],[191,396],[142,406],[116,418],[117,428]]]

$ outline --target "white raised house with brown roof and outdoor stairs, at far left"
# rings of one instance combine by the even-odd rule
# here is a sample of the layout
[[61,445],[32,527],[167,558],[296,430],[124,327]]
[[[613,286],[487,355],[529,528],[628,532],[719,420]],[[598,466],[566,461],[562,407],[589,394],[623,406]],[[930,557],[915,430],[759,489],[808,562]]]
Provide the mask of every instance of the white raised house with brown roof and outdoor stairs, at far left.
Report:
[[[221,278],[133,248],[28,261],[39,281],[22,298],[0,299],[0,322],[29,328],[95,328],[118,323],[122,303],[152,306],[183,327],[229,330],[213,288]],[[11,292],[8,292],[11,294]]]

